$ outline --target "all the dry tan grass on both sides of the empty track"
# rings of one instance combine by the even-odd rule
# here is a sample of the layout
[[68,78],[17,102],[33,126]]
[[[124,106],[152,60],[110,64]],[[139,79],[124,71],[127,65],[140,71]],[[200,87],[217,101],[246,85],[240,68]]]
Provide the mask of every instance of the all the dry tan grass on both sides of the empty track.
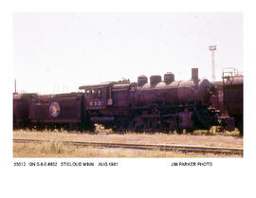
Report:
[[13,157],[227,157],[227,155],[200,155],[194,153],[171,153],[163,151],[142,151],[128,149],[98,149],[76,147],[62,141],[104,142],[126,144],[187,144],[206,145],[227,148],[243,148],[243,137],[239,135],[192,134],[176,135],[163,133],[114,134],[111,130],[96,133],[78,133],[67,131],[13,131],[15,139],[49,140],[46,143],[13,143]]

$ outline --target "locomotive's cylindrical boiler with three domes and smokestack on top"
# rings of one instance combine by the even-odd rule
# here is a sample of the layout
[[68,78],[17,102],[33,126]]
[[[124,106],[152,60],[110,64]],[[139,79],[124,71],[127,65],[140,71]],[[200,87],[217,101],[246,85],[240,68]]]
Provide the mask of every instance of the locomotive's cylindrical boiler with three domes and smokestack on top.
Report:
[[151,76],[149,83],[145,76],[139,76],[137,88],[132,93],[132,102],[134,105],[145,105],[157,103],[159,105],[190,105],[200,104],[208,106],[210,96],[214,92],[214,86],[210,81],[198,80],[198,69],[192,69],[192,79],[189,81],[174,81],[174,74],[169,72],[164,75],[164,81],[161,76]]

